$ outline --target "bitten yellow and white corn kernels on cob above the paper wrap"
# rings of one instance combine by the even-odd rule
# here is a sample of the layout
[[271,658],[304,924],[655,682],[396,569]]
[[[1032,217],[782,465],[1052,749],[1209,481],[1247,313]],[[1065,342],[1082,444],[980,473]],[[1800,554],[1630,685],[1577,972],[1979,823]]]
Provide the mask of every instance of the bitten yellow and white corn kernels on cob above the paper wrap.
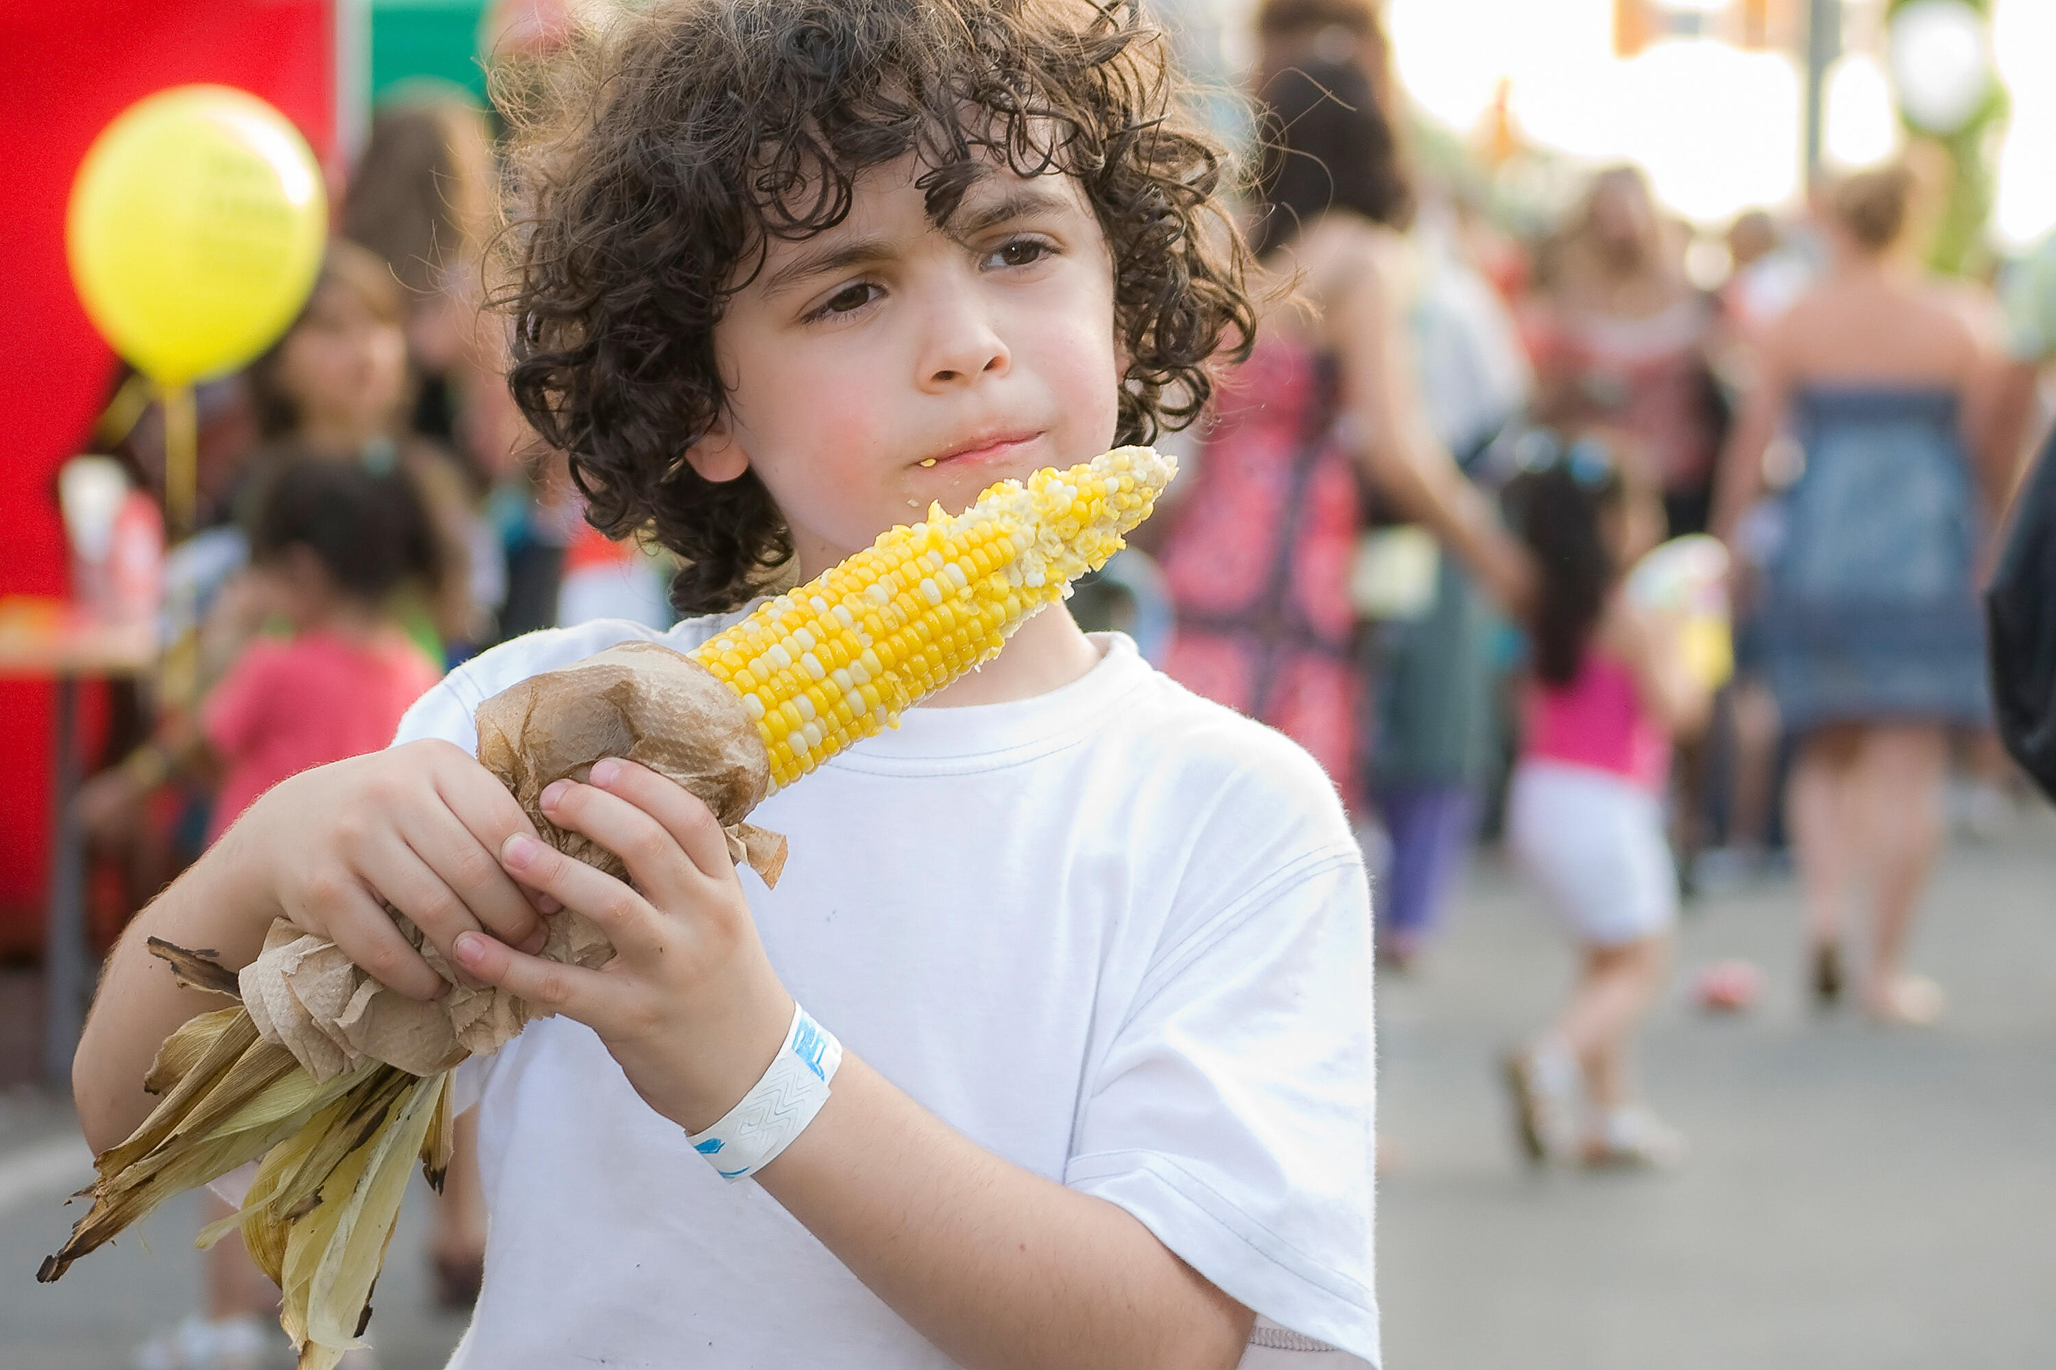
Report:
[[882,534],[693,659],[742,696],[771,781],[792,785],[989,661],[1024,618],[1121,548],[1172,470],[1149,448],[1116,448],[1038,470],[1026,487],[1001,481],[956,518],[931,505],[927,522]]

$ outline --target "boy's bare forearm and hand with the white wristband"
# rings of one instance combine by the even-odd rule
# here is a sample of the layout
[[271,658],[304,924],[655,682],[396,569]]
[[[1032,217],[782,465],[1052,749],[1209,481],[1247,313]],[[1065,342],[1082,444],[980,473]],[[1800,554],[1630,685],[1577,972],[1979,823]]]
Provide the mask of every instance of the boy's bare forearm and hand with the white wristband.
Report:
[[[635,1091],[699,1132],[777,1056],[777,982],[707,807],[652,770],[598,762],[543,795],[551,822],[621,854],[633,887],[539,842],[502,861],[615,943],[602,969],[483,937],[458,963],[590,1025]],[[833,1027],[833,1025],[831,1025]],[[1123,1208],[1009,1165],[855,1056],[806,1132],[757,1175],[894,1312],[972,1370],[1234,1366],[1254,1315]]]

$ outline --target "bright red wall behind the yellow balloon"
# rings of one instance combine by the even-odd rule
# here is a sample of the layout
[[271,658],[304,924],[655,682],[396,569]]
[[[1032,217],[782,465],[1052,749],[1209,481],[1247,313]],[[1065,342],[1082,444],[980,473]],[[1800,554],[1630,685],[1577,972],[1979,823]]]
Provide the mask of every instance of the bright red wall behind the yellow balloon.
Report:
[[[0,0],[0,596],[64,592],[53,474],[111,378],[64,267],[86,146],[152,90],[206,80],[271,101],[329,158],[333,66],[329,0]],[[0,945],[41,922],[49,700],[0,680]]]

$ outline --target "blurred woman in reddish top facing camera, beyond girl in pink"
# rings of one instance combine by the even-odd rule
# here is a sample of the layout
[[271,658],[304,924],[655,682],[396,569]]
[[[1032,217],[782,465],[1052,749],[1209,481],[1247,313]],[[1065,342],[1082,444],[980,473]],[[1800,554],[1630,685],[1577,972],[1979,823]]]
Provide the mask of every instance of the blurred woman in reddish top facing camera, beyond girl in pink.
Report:
[[1641,168],[1593,177],[1544,263],[1523,320],[1536,417],[1632,433],[1663,491],[1665,536],[1704,532],[1725,417],[1706,351],[1715,314]]

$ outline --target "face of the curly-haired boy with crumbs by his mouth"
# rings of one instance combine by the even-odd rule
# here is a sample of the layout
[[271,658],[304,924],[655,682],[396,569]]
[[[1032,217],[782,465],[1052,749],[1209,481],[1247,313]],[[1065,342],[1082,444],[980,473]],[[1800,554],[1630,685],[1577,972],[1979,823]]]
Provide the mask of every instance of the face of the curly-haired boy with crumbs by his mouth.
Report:
[[919,173],[876,168],[847,220],[773,240],[713,333],[728,409],[689,458],[755,468],[808,577],[1114,440],[1112,261],[1077,181],[993,168],[935,228]]

